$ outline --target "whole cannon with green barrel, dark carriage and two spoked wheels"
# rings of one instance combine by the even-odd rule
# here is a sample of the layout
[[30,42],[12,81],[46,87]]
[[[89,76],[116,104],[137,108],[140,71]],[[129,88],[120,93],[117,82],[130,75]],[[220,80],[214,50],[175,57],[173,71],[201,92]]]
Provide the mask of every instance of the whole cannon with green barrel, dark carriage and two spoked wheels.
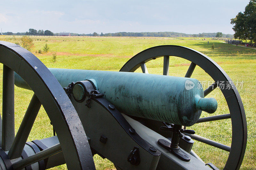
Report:
[[[184,77],[169,76],[170,56],[191,62]],[[160,57],[163,75],[148,74],[146,63]],[[247,140],[242,100],[227,73],[196,50],[175,45],[148,48],[115,72],[47,68],[26,49],[0,41],[0,62],[2,169],[41,170],[65,163],[68,169],[95,169],[94,154],[109,159],[116,169],[218,169],[193,151],[194,140],[227,152],[224,169],[241,166]],[[196,66],[214,80],[205,90],[191,78]],[[143,73],[135,73],[138,68]],[[228,82],[229,88],[219,90],[229,113],[200,117],[202,111],[216,111],[217,100],[206,96],[218,90],[220,81]],[[16,135],[14,84],[34,92]],[[41,105],[56,136],[27,141]],[[187,129],[230,119],[230,146]]]

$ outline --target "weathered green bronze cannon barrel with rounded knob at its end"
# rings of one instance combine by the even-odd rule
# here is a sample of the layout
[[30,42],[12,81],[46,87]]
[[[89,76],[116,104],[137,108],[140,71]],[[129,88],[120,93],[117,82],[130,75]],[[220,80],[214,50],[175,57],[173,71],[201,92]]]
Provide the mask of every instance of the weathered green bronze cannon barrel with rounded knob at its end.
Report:
[[[204,98],[202,85],[194,78],[117,71],[49,70],[62,87],[71,82],[94,79],[97,90],[127,115],[192,126],[202,110],[213,113],[217,109],[217,101]],[[30,89],[17,74],[15,85]]]

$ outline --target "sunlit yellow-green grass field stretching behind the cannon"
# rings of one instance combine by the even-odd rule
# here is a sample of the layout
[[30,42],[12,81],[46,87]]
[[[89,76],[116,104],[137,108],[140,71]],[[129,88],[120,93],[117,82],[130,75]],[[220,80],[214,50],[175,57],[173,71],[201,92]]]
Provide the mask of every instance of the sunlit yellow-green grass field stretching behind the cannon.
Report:
[[[212,41],[188,40],[189,38],[154,38],[154,37],[31,37],[35,48],[31,52],[36,55],[47,67],[86,69],[86,70],[111,70],[118,71],[132,56],[142,50],[158,45],[180,45],[196,49],[217,62],[234,82],[244,82],[238,91],[241,95],[247,118],[248,138],[247,147],[241,169],[256,169],[256,49],[236,47],[225,44],[219,40]],[[19,37],[16,36],[16,41]],[[0,36],[2,41],[14,42],[12,36]],[[50,51],[38,54],[48,44]],[[212,43],[215,49],[212,49]],[[56,62],[52,61],[52,54],[56,53]],[[184,77],[190,62],[177,57],[170,57],[169,75]],[[147,63],[148,71],[152,74],[162,74],[163,60],[156,59]],[[0,73],[2,74],[2,66]],[[141,72],[141,70],[136,70]],[[196,67],[192,78],[202,81],[212,81],[204,70]],[[0,78],[2,86],[2,76]],[[207,85],[204,87],[206,88]],[[2,88],[0,90],[2,95]],[[26,112],[33,92],[15,87],[15,132],[17,132],[22,118]],[[207,96],[208,97],[208,96]],[[218,109],[213,115],[227,114],[228,107],[220,89],[215,89],[209,97],[218,101]],[[2,97],[0,97],[2,100]],[[0,106],[2,107],[2,106]],[[2,108],[1,108],[2,109]],[[209,116],[203,113],[202,117]],[[200,123],[189,127],[195,129],[196,134],[220,142],[231,144],[231,120]],[[52,136],[52,126],[43,107],[41,107],[36,122],[30,133],[28,141]],[[212,162],[223,168],[228,158],[228,153],[212,146],[195,142],[193,150],[205,161]],[[107,159],[95,155],[94,161],[97,169],[115,169]],[[53,169],[65,169],[65,166]]]

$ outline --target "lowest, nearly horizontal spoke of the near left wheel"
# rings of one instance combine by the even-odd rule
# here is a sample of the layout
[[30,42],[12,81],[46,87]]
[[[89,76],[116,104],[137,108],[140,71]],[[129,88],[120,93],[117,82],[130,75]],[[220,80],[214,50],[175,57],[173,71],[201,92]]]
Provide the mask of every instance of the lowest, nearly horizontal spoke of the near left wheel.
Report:
[[28,158],[21,159],[20,161],[14,162],[12,164],[13,169],[24,168],[28,165],[34,164],[40,160],[43,160],[45,158],[52,156],[52,155],[60,153],[61,151],[62,150],[61,150],[60,144],[53,145],[52,147],[47,148],[41,152],[38,152],[35,155],[31,155]]

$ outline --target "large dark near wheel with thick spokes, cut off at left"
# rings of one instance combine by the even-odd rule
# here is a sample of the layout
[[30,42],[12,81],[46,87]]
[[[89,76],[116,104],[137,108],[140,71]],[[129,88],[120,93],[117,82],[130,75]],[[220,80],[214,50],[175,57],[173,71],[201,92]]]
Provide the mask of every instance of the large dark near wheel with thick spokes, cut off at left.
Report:
[[[4,65],[2,150],[9,151],[10,159],[21,156],[41,104],[60,141],[60,144],[48,148],[47,153],[41,151],[43,153],[36,157],[38,160],[29,156],[22,164],[13,164],[13,168],[17,169],[32,164],[31,162],[38,162],[62,150],[68,168],[95,169],[90,146],[76,110],[46,66],[28,50],[5,41],[0,41],[0,62]],[[14,71],[34,91],[16,136],[14,132]]]

